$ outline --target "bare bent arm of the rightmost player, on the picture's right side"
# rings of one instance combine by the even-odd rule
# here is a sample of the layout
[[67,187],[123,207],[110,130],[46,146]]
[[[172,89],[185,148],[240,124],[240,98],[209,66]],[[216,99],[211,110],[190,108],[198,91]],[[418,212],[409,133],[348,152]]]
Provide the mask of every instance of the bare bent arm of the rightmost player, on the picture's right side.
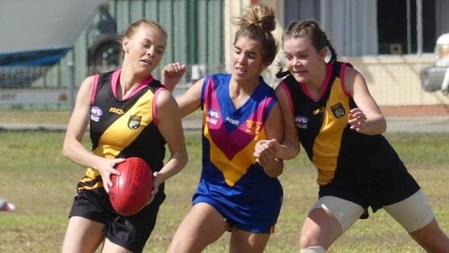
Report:
[[367,135],[385,132],[387,122],[359,71],[354,68],[346,68],[345,88],[352,95],[358,107],[352,109],[348,115],[351,129]]

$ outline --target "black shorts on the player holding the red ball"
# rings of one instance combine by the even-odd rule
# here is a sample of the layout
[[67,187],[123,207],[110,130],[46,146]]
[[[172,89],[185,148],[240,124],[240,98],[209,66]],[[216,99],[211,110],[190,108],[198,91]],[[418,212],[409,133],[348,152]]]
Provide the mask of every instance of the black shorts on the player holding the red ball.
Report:
[[157,212],[164,202],[164,184],[161,184],[155,199],[140,212],[132,216],[117,214],[103,187],[82,190],[73,200],[69,217],[81,216],[104,223],[104,236],[109,241],[132,252],[142,252],[156,223]]

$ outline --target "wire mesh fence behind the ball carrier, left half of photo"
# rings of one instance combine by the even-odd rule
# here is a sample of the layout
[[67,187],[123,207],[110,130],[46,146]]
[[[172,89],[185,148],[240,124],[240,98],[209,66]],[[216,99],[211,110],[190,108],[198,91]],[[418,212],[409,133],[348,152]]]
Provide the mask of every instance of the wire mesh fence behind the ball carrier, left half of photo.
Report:
[[[113,71],[116,67],[88,66],[82,71],[86,76]],[[153,71],[160,79],[158,67]],[[75,79],[75,72],[80,71],[73,64],[68,66],[0,66],[0,109],[21,110],[70,110],[73,108],[77,88],[82,80]],[[191,65],[187,73],[175,88],[173,95],[184,92],[193,82],[209,75],[222,73],[224,66]]]

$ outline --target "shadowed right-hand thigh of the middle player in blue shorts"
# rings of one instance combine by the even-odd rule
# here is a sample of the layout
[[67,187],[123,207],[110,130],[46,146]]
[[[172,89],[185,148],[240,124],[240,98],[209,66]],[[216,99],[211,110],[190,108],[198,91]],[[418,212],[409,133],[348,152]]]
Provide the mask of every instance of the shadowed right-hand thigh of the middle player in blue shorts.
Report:
[[254,233],[232,227],[229,252],[263,252],[270,235],[269,233]]

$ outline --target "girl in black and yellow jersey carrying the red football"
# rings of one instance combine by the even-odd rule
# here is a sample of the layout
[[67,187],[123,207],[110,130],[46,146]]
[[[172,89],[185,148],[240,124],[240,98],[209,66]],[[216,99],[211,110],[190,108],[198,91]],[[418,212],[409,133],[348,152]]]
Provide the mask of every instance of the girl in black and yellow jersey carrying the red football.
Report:
[[[64,140],[64,156],[87,167],[77,185],[62,252],[142,252],[164,201],[164,181],[187,163],[180,111],[173,96],[151,76],[164,55],[166,32],[153,22],[129,26],[122,68],[87,77],[79,87]],[[82,145],[90,123],[92,152]],[[165,143],[171,158],[163,164]],[[153,170],[153,196],[133,216],[114,211],[108,198],[115,165],[137,156]]]

